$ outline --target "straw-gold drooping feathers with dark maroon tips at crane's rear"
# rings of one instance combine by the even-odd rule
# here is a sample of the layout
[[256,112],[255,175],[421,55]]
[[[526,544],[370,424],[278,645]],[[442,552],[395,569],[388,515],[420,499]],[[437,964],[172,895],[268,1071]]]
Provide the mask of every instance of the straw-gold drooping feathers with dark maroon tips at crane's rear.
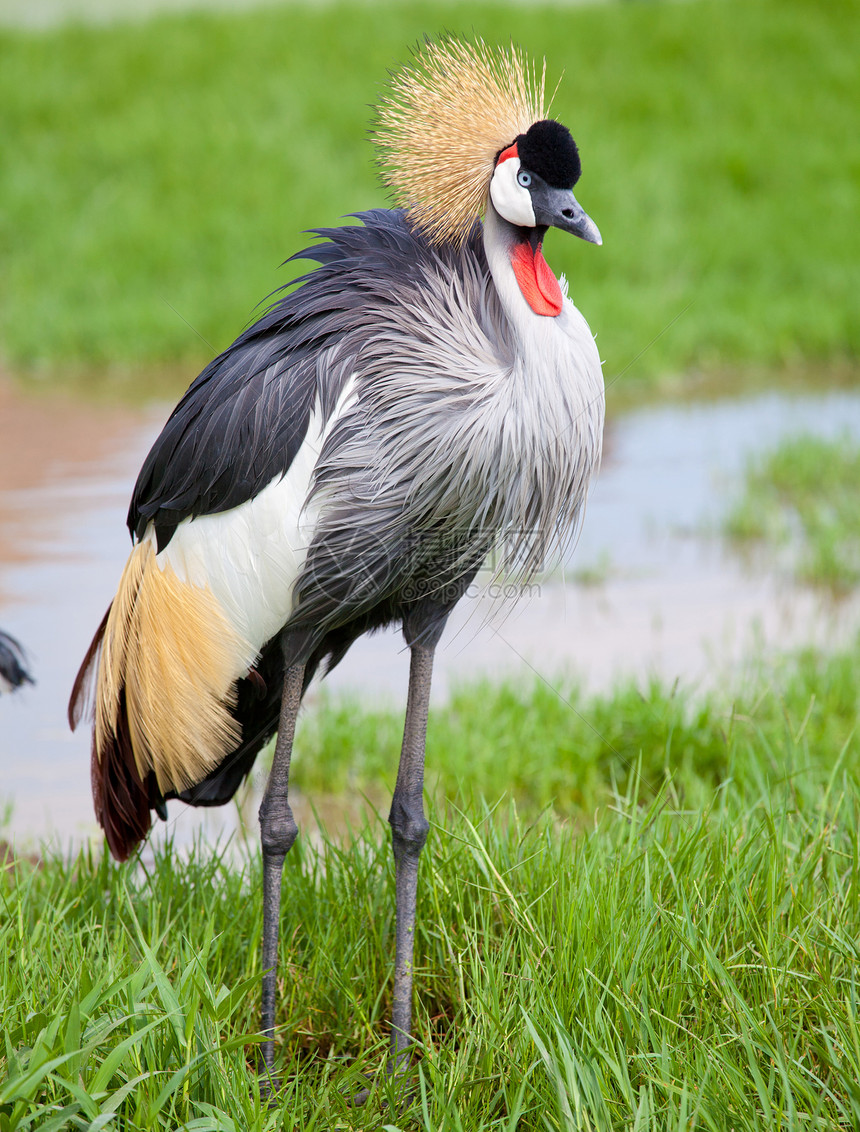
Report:
[[134,549],[69,703],[72,729],[93,681],[93,800],[111,852],[124,860],[161,796],[200,782],[241,738],[235,680],[253,649],[208,589]]

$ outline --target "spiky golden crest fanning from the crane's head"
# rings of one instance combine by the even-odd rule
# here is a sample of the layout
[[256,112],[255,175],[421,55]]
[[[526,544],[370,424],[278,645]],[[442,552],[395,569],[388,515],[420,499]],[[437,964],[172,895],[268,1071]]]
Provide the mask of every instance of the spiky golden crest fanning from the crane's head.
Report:
[[372,131],[382,181],[430,240],[463,243],[499,151],[544,117],[544,79],[513,43],[453,37],[393,76]]

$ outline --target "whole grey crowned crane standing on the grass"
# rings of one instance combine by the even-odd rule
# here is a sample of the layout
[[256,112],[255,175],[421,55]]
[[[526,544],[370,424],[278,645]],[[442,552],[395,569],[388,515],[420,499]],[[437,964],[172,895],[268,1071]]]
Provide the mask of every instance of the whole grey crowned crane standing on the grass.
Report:
[[550,228],[602,240],[574,196],[578,146],[547,117],[545,72],[513,43],[445,35],[390,74],[371,139],[392,206],[312,230],[292,257],[311,269],[173,410],[72,689],[119,860],[169,799],[226,803],[277,735],[259,808],[261,1089],[277,1083],[290,760],[311,678],[363,634],[402,628],[386,1073],[403,1079],[435,650],[488,558],[523,580],[565,544],[600,464],[600,354],[543,241]]

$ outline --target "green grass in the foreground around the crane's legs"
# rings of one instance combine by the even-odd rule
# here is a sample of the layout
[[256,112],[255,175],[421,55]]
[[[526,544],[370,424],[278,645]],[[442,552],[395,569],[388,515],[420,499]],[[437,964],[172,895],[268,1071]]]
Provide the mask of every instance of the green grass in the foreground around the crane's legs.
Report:
[[[0,877],[0,1130],[855,1127],[857,660],[807,652],[733,707],[539,685],[433,713],[459,808],[431,806],[422,858],[407,1113],[385,1090],[345,1104],[385,1056],[381,822],[287,861],[274,1112],[250,1067],[256,854],[19,861]],[[390,780],[392,717],[325,717],[303,720],[306,787]],[[516,808],[473,801],[517,765]]]

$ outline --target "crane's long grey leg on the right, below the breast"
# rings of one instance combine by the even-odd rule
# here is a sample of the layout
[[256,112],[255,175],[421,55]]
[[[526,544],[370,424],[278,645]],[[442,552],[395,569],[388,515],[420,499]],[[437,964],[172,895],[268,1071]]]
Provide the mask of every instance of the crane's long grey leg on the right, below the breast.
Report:
[[418,863],[427,841],[429,823],[424,815],[424,740],[430,705],[433,648],[413,644],[410,663],[410,691],[406,723],[397,769],[397,784],[388,821],[392,826],[395,880],[397,887],[397,931],[394,962],[394,1006],[392,1010],[392,1049],[388,1074],[403,1072],[412,1043],[412,960],[415,937],[415,895]]

